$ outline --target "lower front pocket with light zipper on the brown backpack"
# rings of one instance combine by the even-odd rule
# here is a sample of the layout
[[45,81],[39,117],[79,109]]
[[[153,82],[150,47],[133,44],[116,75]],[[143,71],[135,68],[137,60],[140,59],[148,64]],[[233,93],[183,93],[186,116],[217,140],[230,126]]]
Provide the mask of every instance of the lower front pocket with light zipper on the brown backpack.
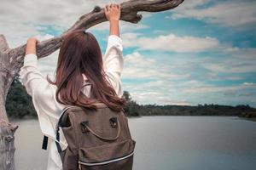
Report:
[[112,144],[79,149],[80,170],[131,170],[136,141],[126,139]]

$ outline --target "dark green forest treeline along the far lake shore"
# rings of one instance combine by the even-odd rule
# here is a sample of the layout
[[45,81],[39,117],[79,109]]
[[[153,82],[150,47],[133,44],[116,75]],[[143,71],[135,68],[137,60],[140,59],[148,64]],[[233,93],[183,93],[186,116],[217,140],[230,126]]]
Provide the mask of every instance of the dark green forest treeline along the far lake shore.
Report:
[[[243,116],[256,117],[256,109],[249,105],[138,105],[129,92],[122,96],[127,101],[126,116]],[[32,97],[26,94],[19,78],[15,77],[6,100],[6,110],[11,118],[37,117]]]

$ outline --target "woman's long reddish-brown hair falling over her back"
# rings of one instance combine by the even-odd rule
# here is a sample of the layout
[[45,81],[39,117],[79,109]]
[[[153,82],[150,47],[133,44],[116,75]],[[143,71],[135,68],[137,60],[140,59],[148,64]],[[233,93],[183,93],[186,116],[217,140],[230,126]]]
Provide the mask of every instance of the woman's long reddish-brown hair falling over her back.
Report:
[[[92,84],[90,93],[94,98],[86,97],[81,90],[84,82],[82,73]],[[119,98],[106,79],[100,46],[90,32],[73,31],[64,37],[55,71],[55,82],[48,75],[47,80],[56,85],[56,99],[63,105],[96,109],[93,104],[100,101],[113,111],[121,111],[125,105],[125,99]]]

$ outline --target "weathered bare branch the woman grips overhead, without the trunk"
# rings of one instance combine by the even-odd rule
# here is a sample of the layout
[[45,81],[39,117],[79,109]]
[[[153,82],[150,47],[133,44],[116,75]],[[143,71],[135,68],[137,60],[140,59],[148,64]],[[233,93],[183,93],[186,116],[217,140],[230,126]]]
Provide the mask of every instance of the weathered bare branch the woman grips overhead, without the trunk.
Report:
[[[125,3],[121,3],[121,16],[120,20],[125,20],[131,23],[137,23],[140,21],[143,16],[142,14],[137,14],[141,11],[146,12],[160,12],[176,8],[180,3],[183,3],[183,0],[130,0]],[[107,18],[104,14],[104,8],[96,6],[90,13],[82,15],[79,20],[77,20],[73,26],[71,26],[67,31],[63,32],[60,37],[54,37],[44,42],[38,43],[37,53],[38,59],[52,54],[61,47],[61,39],[71,31],[78,29],[88,29],[91,26],[96,26],[99,23],[107,21]],[[22,45],[18,48],[14,48],[13,52],[20,55],[25,54],[26,45]],[[15,61],[15,59],[13,59]]]

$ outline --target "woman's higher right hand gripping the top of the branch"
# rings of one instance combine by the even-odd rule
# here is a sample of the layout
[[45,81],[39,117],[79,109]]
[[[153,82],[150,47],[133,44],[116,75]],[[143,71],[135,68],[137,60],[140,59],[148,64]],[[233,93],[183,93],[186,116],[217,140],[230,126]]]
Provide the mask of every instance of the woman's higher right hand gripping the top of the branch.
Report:
[[104,8],[104,11],[105,11],[106,18],[108,19],[109,22],[117,21],[120,19],[121,5],[111,3],[110,5],[106,5],[106,7]]

